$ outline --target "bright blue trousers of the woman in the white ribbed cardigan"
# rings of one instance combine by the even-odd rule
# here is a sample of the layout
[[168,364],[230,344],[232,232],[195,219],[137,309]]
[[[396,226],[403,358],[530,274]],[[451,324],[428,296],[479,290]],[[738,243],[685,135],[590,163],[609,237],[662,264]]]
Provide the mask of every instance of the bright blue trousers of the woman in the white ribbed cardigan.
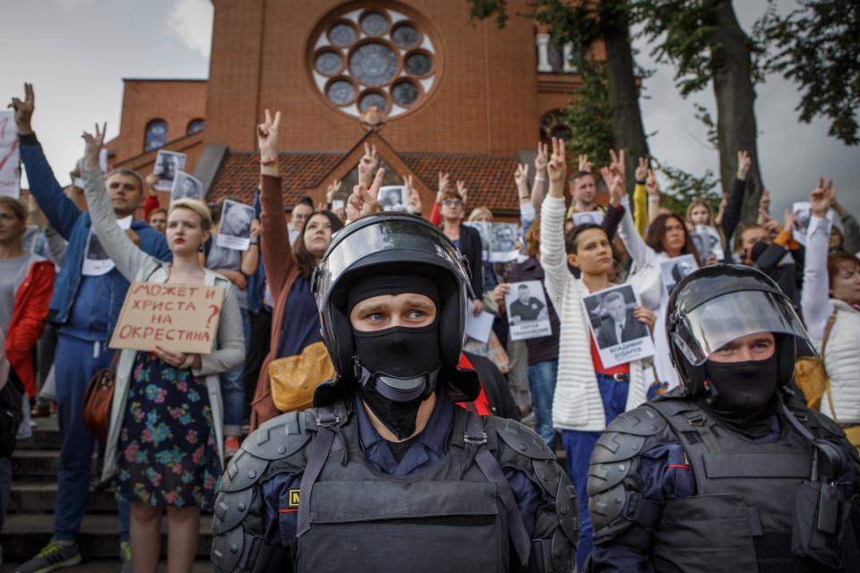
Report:
[[[611,376],[598,374],[598,389],[603,400],[606,424],[624,412],[627,405],[629,382],[616,382]],[[568,471],[576,488],[576,499],[580,505],[580,543],[576,549],[576,570],[581,571],[591,552],[591,517],[589,516],[589,462],[594,445],[603,432],[562,431],[562,444],[567,453]]]

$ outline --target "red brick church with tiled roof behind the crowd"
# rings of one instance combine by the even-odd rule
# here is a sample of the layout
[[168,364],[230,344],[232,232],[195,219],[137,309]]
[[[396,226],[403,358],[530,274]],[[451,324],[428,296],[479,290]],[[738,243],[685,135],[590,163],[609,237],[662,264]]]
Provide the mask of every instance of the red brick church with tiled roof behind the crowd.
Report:
[[[159,149],[187,154],[210,201],[251,200],[254,125],[268,107],[284,116],[288,203],[322,200],[332,179],[346,195],[372,142],[386,184],[414,175],[427,212],[443,170],[469,186],[469,208],[510,217],[516,162],[563,132],[555,112],[579,85],[546,30],[522,17],[502,30],[495,19],[470,21],[466,0],[213,4],[209,79],[126,79],[120,134],[107,145],[114,167],[144,174]],[[511,0],[508,10],[529,5]]]

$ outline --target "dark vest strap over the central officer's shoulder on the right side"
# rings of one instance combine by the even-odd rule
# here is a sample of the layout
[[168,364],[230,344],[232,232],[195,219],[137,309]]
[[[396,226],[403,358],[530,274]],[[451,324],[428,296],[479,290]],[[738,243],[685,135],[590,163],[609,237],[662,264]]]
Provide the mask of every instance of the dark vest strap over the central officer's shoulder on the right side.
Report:
[[531,549],[529,534],[526,533],[526,526],[522,523],[520,508],[513,497],[511,484],[504,477],[502,468],[499,467],[499,462],[486,447],[486,432],[481,418],[468,411],[467,415],[466,432],[463,434],[463,441],[468,447],[477,450],[475,453],[477,466],[486,476],[486,479],[489,482],[495,483],[499,488],[499,497],[502,499],[504,513],[508,518],[511,543],[513,543],[513,548],[517,552],[517,557],[520,558],[520,565],[526,567],[529,564],[529,551]]

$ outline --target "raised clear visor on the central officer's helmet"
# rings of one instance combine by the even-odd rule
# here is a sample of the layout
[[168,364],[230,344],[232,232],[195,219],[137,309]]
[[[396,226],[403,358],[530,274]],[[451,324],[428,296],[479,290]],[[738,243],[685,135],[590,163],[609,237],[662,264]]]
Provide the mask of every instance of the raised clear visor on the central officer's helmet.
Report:
[[356,230],[345,227],[340,233],[348,235],[334,236],[329,252],[316,270],[314,292],[318,308],[323,307],[344,274],[360,269],[362,261],[370,257],[374,261],[388,258],[391,263],[437,265],[451,269],[468,282],[469,274],[460,252],[440,231],[420,222],[380,218],[379,222]]

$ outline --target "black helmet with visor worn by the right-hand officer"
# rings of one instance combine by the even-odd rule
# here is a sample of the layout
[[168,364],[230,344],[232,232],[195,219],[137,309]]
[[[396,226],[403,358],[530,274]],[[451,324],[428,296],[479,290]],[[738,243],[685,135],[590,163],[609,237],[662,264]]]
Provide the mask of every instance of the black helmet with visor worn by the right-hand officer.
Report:
[[672,363],[692,395],[704,391],[708,356],[736,338],[775,335],[780,387],[792,381],[798,346],[813,347],[791,300],[767,275],[743,265],[703,267],[675,285],[666,331]]

